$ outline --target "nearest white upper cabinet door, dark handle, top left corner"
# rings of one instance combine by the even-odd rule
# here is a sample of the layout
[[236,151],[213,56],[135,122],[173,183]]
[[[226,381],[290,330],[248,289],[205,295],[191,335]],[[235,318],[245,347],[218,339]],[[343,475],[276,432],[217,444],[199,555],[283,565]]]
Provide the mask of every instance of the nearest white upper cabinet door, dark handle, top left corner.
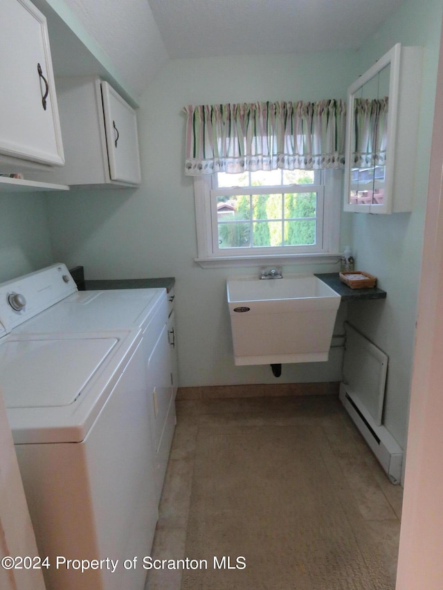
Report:
[[2,0],[1,15],[0,162],[63,165],[46,18],[28,0]]

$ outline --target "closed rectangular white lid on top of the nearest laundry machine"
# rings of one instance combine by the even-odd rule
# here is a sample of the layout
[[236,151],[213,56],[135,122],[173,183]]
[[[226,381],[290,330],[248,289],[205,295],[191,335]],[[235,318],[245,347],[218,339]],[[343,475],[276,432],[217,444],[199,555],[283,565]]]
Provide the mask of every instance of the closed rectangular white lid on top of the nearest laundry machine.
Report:
[[6,407],[73,403],[114,346],[116,338],[8,340],[0,346]]

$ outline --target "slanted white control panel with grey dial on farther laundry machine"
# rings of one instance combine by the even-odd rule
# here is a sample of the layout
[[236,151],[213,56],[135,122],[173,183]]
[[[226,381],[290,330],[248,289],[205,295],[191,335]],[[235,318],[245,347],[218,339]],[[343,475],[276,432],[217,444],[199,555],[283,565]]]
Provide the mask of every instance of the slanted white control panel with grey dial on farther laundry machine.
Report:
[[0,323],[10,332],[75,291],[77,285],[64,264],[53,264],[1,283]]

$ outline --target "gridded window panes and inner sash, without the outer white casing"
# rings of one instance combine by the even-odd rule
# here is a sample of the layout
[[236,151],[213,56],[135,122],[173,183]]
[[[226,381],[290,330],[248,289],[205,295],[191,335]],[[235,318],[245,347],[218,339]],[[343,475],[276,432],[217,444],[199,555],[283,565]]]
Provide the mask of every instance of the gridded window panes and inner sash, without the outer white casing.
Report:
[[213,252],[293,252],[323,241],[324,186],[314,170],[215,175],[210,191]]

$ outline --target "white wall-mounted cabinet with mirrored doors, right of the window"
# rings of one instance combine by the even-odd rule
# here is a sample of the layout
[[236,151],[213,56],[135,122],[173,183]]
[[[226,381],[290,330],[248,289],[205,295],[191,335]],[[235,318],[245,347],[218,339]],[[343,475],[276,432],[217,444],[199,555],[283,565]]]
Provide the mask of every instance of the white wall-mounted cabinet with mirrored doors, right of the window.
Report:
[[347,91],[344,210],[412,210],[422,48],[397,44]]

